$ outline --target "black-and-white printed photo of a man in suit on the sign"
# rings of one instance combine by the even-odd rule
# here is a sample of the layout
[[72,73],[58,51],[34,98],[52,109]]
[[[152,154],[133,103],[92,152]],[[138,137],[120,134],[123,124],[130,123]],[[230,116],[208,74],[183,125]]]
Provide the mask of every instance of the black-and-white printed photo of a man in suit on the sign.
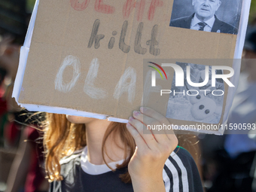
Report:
[[237,35],[242,0],[174,0],[169,26]]

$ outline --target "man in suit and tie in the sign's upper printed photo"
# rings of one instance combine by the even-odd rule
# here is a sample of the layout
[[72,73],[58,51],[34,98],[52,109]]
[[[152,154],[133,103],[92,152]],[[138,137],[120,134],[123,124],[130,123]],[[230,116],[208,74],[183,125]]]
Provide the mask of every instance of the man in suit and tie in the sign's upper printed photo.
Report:
[[221,6],[220,0],[192,0],[194,14],[171,20],[169,26],[205,32],[223,32],[237,35],[238,29],[219,20],[215,15]]

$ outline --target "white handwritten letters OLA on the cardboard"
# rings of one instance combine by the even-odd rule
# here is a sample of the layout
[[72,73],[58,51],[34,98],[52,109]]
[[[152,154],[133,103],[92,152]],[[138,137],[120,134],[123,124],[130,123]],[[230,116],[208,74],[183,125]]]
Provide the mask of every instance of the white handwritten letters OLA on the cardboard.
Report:
[[[73,67],[73,78],[69,83],[63,81],[63,72],[66,67]],[[90,69],[87,73],[87,78],[84,81],[84,93],[86,93],[92,99],[104,99],[108,96],[108,91],[104,88],[96,87],[94,81],[97,78],[99,70],[99,59],[95,58],[90,63]],[[59,72],[55,78],[55,90],[59,90],[63,93],[68,93],[75,87],[78,78],[81,75],[81,62],[76,56],[66,56],[62,62],[62,66],[59,68]],[[129,81],[130,80],[130,81]],[[149,82],[149,81],[148,81]],[[150,83],[149,83],[150,84]],[[128,102],[132,103],[135,99],[136,93],[136,70],[133,67],[128,67],[114,89],[114,99],[119,99],[122,93],[128,93]]]

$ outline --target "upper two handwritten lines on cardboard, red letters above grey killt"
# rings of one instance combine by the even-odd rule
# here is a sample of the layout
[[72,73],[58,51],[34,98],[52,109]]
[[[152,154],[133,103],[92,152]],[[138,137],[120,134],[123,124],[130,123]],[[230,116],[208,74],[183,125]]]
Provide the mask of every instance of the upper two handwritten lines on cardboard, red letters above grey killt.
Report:
[[[157,7],[162,7],[163,2],[160,0],[150,0],[151,5],[148,8],[148,20],[154,19],[154,14]],[[72,8],[74,8],[77,11],[84,11],[87,6],[90,3],[90,0],[85,1],[79,1],[79,0],[70,0]],[[123,51],[123,53],[129,53],[130,52],[130,45],[125,43],[126,38],[126,32],[128,29],[128,19],[130,17],[130,13],[133,11],[133,8],[136,8],[136,19],[138,21],[142,20],[143,14],[145,12],[145,5],[146,0],[141,0],[140,2],[136,2],[136,0],[126,0],[123,5],[123,19],[125,21],[123,22],[123,26],[120,32],[120,38],[119,38],[119,48]],[[105,5],[103,3],[103,0],[96,0],[95,11],[103,14],[114,14],[115,8],[111,5]],[[142,39],[142,30],[143,30],[144,23],[139,23],[137,32],[136,32],[136,38],[135,38],[135,44],[134,44],[134,51],[136,53],[144,55],[147,53],[147,48],[142,47],[141,39]],[[100,20],[95,20],[93,24],[93,29],[90,36],[90,41],[88,43],[88,48],[93,46],[94,48],[98,49],[100,46],[100,41],[105,38],[105,35],[98,34],[100,29]],[[160,49],[156,48],[155,46],[158,45],[157,38],[157,29],[158,26],[153,26],[153,29],[151,30],[151,39],[146,42],[146,44],[149,46],[149,53],[151,53],[154,56],[157,56],[160,54]],[[115,38],[114,36],[117,35],[117,31],[112,32],[113,37],[110,38],[108,42],[108,49],[112,49],[114,47]]]

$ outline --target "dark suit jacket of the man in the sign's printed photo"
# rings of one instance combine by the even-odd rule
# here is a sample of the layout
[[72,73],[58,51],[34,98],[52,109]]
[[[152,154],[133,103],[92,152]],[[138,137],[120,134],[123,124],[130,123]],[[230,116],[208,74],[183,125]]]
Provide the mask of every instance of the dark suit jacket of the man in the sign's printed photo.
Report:
[[[171,20],[169,26],[190,29],[191,20],[193,17],[194,14],[190,15],[189,17],[181,17],[175,20]],[[238,30],[236,27],[219,20],[218,17],[215,16],[215,23],[212,26],[212,32],[224,32],[237,35]]]

